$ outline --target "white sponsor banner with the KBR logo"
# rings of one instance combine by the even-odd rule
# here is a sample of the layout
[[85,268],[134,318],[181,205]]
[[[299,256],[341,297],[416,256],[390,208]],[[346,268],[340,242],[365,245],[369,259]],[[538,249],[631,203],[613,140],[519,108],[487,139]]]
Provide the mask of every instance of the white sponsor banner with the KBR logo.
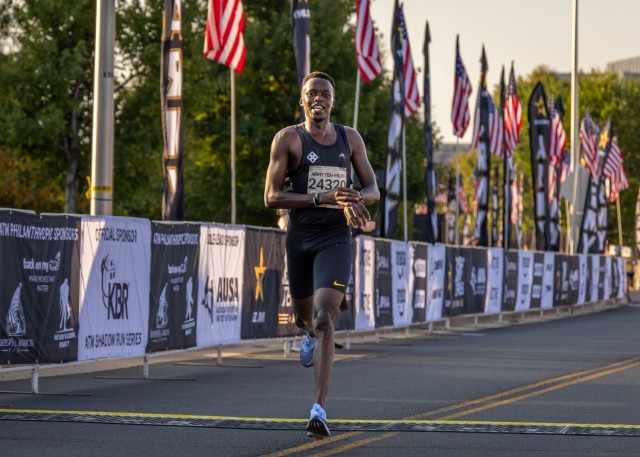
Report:
[[151,223],[83,217],[80,236],[78,360],[144,354]]

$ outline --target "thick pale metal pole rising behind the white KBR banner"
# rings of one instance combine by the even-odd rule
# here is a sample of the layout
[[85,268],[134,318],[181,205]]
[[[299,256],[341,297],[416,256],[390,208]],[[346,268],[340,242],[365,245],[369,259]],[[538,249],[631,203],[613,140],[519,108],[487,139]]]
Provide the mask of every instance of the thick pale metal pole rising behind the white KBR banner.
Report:
[[91,145],[91,214],[110,216],[113,204],[113,59],[115,0],[96,0]]

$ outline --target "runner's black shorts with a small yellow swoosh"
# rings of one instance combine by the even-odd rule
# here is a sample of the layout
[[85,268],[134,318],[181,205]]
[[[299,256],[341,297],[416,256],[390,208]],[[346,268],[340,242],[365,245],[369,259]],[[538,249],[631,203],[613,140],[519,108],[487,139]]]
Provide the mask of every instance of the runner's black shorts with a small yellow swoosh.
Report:
[[346,225],[300,226],[289,222],[287,270],[292,298],[328,287],[346,292],[351,275],[351,229]]

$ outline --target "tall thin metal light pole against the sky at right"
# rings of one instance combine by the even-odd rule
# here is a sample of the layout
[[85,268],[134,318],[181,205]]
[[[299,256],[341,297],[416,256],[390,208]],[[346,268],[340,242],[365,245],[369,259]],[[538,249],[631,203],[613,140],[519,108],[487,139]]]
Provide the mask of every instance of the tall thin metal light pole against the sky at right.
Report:
[[573,0],[573,41],[571,46],[571,173],[573,177],[573,194],[569,203],[568,219],[569,252],[575,254],[578,249],[578,229],[583,199],[578,199],[578,167],[580,159],[580,140],[578,139],[578,0]]

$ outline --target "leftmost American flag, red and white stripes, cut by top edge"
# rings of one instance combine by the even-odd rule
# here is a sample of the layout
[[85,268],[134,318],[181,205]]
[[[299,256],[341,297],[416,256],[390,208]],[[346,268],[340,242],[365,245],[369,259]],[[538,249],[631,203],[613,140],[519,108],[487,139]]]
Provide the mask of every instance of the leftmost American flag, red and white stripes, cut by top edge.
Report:
[[244,10],[241,0],[209,0],[204,33],[207,59],[242,72],[247,49],[244,46]]

